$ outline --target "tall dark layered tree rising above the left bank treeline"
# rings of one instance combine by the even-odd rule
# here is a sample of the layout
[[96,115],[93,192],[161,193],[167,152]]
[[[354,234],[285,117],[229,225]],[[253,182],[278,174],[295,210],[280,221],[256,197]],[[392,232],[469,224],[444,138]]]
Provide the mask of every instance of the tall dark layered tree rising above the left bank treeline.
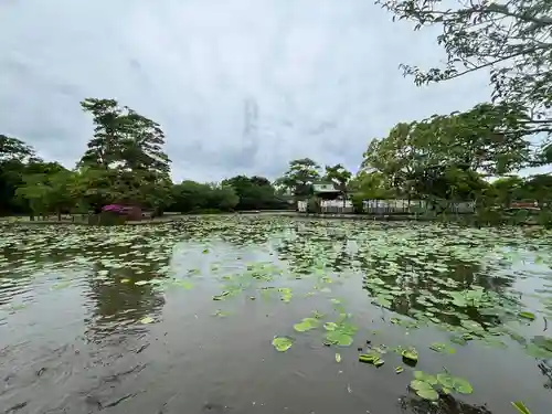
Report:
[[84,198],[91,205],[125,202],[161,209],[172,183],[159,124],[115,99],[81,103],[93,115],[94,137],[78,166],[86,168]]

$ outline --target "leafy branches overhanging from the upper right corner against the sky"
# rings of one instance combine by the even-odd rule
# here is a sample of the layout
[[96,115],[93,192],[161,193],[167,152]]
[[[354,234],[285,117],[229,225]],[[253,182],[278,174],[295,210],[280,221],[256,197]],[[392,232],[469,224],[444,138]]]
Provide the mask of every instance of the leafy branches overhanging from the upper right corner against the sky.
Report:
[[440,26],[437,36],[447,54],[444,67],[426,72],[402,65],[417,85],[490,70],[493,100],[521,105],[530,117],[526,134],[552,132],[552,3],[548,0],[458,1],[376,0],[393,20],[415,22],[415,30]]

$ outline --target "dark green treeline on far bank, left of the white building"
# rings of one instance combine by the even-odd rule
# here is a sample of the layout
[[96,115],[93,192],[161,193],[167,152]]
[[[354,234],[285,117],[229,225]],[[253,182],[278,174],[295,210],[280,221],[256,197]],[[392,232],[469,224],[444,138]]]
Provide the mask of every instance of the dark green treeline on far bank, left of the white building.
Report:
[[0,213],[50,215],[99,212],[112,203],[161,214],[286,209],[263,177],[237,176],[220,183],[170,178],[160,126],[113,99],[81,103],[94,121],[87,150],[72,170],[44,161],[18,138],[0,135]]

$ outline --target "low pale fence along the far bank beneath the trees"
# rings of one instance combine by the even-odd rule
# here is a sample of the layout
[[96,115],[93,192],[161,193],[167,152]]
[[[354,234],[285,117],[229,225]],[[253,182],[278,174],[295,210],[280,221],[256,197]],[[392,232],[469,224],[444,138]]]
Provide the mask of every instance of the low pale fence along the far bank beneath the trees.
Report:
[[[364,200],[362,211],[367,214],[423,214],[428,211],[448,211],[450,213],[473,213],[475,202],[449,202],[444,205],[434,206],[423,200]],[[307,212],[307,201],[298,201],[297,210],[300,213]],[[347,200],[343,205],[342,200],[322,200],[320,210],[323,214],[352,214],[354,209],[352,203]]]

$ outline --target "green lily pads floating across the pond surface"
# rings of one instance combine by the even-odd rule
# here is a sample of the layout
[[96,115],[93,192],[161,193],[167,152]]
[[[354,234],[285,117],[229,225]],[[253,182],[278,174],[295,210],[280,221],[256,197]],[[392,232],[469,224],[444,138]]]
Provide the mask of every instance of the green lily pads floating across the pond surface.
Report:
[[[210,257],[216,254],[219,242],[263,250],[274,261],[235,257],[236,264],[223,258],[208,269],[185,272],[172,262],[182,243]],[[519,342],[532,357],[552,358],[551,338],[527,337],[537,326],[545,333],[552,317],[551,242],[550,233],[527,234],[520,227],[359,225],[282,217],[190,217],[151,227],[6,225],[0,240],[0,289],[9,291],[30,275],[53,270],[60,277],[51,288],[63,289],[73,284],[71,272],[78,270],[104,285],[161,291],[192,289],[203,276],[216,278],[220,291],[212,296],[216,307],[238,295],[283,304],[299,296],[327,295],[336,317],[315,311],[289,327],[290,332],[275,332],[283,335],[274,337],[274,348],[286,352],[296,336],[309,331],[328,347],[353,344],[359,328],[342,300],[331,297],[331,285],[362,275],[367,300],[380,307],[391,325],[406,331],[432,327],[449,332],[449,342],[427,343],[435,352],[454,354],[455,347],[469,343],[505,348]],[[518,290],[516,283],[523,278],[538,279],[540,287]],[[304,282],[301,286],[310,284],[308,291],[294,290],[297,280]],[[10,304],[10,310],[15,306]],[[212,315],[230,316],[220,308]],[[137,321],[147,325],[156,318]],[[418,360],[412,347],[397,346],[394,351],[405,364]],[[363,347],[360,352],[360,362],[384,364],[383,346]],[[336,352],[336,361],[341,359]],[[403,371],[403,367],[395,368],[396,373]],[[422,371],[414,372],[411,389],[431,401],[473,391],[466,380],[448,372],[429,375]]]

